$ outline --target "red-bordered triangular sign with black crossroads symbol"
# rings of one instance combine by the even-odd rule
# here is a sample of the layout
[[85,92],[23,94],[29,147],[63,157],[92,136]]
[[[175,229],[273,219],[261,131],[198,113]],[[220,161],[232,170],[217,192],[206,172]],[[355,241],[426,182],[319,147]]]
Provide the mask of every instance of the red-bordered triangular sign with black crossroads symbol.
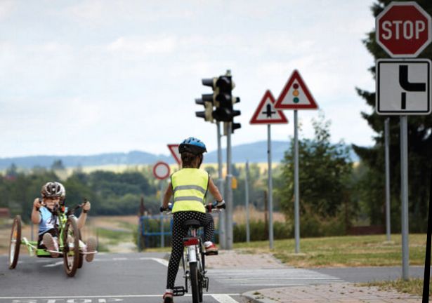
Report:
[[270,90],[267,90],[249,123],[288,123],[287,117],[285,117],[284,113],[281,110],[275,109],[275,102],[275,97],[273,97],[272,93],[270,93]]

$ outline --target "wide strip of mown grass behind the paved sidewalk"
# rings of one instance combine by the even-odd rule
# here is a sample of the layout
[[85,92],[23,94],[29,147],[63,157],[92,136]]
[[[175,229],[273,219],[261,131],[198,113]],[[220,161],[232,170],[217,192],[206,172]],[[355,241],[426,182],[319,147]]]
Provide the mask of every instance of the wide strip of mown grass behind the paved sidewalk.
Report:
[[[277,259],[294,267],[379,267],[400,266],[402,246],[400,235],[337,236],[301,238],[300,252],[294,253],[294,239],[277,240],[274,249],[268,241],[234,243],[234,248],[248,253],[272,253]],[[426,234],[411,234],[410,265],[424,265]]]

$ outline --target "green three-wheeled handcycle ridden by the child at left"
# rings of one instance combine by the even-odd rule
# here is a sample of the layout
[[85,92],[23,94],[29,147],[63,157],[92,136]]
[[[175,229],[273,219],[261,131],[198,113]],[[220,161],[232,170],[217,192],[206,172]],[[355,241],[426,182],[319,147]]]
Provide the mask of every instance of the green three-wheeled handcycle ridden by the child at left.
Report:
[[57,221],[55,228],[58,231],[58,251],[38,248],[37,241],[28,241],[25,237],[21,238],[21,216],[15,216],[9,243],[9,269],[15,269],[20,255],[20,245],[24,244],[29,250],[30,256],[51,257],[51,253],[58,253],[60,257],[63,257],[63,265],[67,276],[74,276],[77,269],[82,267],[84,255],[98,253],[97,251],[86,252],[81,249],[84,243],[81,241],[81,234],[74,211],[83,205],[65,210],[63,202],[53,209],[54,222]]

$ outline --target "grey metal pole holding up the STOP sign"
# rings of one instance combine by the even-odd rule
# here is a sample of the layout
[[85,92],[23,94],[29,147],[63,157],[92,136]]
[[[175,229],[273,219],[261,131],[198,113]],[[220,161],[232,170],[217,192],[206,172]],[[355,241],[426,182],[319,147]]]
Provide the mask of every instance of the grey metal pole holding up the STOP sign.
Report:
[[408,249],[408,131],[407,116],[400,116],[400,199],[402,200],[402,279],[410,277]]

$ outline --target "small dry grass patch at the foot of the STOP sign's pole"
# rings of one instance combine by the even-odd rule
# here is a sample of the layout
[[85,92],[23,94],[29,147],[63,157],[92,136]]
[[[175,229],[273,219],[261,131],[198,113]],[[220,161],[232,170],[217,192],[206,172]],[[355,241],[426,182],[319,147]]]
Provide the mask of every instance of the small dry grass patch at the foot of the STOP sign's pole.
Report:
[[[423,296],[423,283],[422,278],[410,278],[408,281],[398,279],[395,281],[374,281],[369,283],[358,283],[358,286],[376,286],[379,290],[395,290],[397,292],[403,292],[410,295]],[[429,282],[429,297],[432,295],[432,285]]]

